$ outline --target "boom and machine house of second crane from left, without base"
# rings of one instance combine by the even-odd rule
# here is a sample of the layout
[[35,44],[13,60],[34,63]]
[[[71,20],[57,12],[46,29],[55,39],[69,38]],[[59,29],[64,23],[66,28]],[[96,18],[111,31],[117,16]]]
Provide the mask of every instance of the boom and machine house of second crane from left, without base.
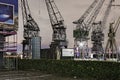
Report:
[[45,2],[53,29],[52,40],[66,42],[66,27],[61,13],[59,12],[54,0],[45,0]]

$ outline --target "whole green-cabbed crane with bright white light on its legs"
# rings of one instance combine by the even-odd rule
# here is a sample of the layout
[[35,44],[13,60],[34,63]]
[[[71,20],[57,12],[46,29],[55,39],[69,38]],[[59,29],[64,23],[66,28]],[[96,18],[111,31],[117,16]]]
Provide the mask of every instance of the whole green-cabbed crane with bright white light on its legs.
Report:
[[[84,45],[85,45],[85,50],[86,48],[88,48],[87,41],[89,40],[88,38],[89,31],[91,30],[92,24],[94,23],[98,13],[100,12],[100,9],[104,1],[105,0],[94,0],[94,2],[85,11],[82,17],[79,20],[73,22],[74,24],[77,24],[76,29],[73,31],[73,36],[75,37],[75,48],[82,47],[81,49],[83,49]],[[84,45],[82,45],[82,43]],[[80,50],[80,51],[83,51],[83,50]],[[80,52],[80,53],[81,53],[80,54],[81,57],[84,58],[85,54],[83,54],[83,52]]]

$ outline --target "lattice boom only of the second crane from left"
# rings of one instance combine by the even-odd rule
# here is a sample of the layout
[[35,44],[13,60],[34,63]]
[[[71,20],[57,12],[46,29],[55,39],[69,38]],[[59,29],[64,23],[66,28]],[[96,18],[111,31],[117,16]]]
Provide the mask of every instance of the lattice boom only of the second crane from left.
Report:
[[63,17],[61,16],[61,13],[59,12],[54,1],[46,0],[46,5],[47,5],[47,10],[49,13],[50,22],[51,22],[53,29],[55,27],[60,27],[60,26],[57,26],[58,24],[60,24],[60,22],[62,23],[62,25],[64,25]]

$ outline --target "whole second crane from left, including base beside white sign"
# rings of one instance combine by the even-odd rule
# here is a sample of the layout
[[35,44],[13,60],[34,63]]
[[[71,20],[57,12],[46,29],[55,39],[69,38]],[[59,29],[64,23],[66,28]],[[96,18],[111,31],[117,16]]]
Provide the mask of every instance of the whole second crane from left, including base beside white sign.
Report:
[[[58,10],[54,0],[45,0],[51,26],[53,29],[52,42],[50,44],[54,59],[60,59],[61,48],[67,48],[66,27],[64,19]],[[57,56],[55,56],[57,55]]]

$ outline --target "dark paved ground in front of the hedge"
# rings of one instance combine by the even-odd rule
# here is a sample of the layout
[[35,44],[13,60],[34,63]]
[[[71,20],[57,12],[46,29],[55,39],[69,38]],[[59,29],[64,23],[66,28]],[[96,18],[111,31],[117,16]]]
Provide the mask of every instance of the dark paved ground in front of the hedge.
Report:
[[[0,80],[77,80],[62,78],[38,71],[0,71]],[[79,79],[80,80],[80,79]]]

